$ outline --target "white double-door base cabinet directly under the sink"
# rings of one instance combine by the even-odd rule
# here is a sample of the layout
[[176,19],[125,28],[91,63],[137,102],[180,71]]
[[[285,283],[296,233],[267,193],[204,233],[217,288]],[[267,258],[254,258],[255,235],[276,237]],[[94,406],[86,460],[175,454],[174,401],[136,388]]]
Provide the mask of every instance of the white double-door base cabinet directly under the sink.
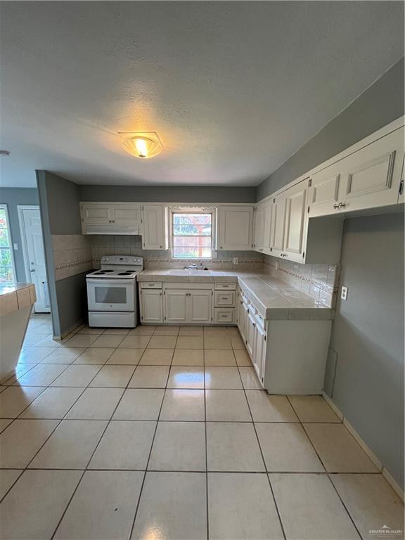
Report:
[[175,287],[164,287],[165,323],[211,324],[213,319],[212,286],[191,288],[186,283],[176,283]]

